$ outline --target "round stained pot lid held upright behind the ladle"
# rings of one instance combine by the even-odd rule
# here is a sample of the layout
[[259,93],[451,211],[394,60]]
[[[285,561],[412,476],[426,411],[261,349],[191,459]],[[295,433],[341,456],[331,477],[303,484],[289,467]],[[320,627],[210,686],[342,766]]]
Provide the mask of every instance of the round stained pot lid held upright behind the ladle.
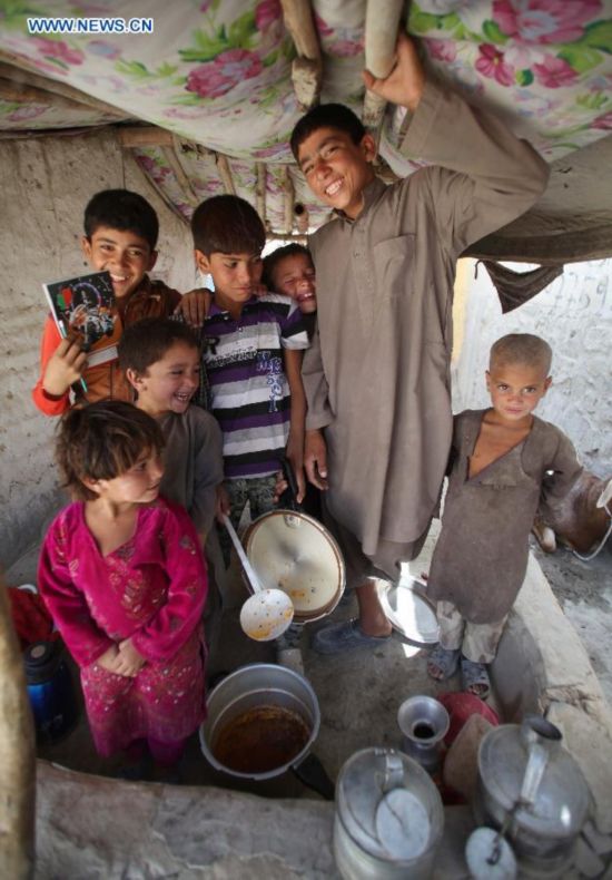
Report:
[[344,560],[336,541],[316,519],[274,510],[255,520],[246,553],[264,587],[282,589],[296,615],[308,615],[339,598]]

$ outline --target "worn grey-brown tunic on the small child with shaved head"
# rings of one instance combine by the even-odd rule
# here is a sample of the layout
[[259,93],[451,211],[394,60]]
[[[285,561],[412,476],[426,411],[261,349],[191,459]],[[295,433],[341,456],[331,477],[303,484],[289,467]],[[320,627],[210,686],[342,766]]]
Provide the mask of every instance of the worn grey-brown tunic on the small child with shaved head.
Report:
[[534,417],[521,443],[470,478],[486,411],[455,417],[453,469],[427,585],[430,598],[452,602],[475,624],[501,620],[510,612],[525,577],[541,496],[564,495],[582,471],[565,434]]

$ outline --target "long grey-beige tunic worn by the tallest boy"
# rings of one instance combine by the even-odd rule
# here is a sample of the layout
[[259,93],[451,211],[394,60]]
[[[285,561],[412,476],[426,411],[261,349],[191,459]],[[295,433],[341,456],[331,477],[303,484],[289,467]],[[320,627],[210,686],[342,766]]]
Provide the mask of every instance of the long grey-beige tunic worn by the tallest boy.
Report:
[[547,179],[529,144],[431,81],[403,150],[437,165],[388,187],[373,180],[355,222],[337,217],[310,239],[318,333],[303,370],[307,428],[325,429],[330,512],[368,556],[381,539],[418,538],[437,503],[456,257],[524,213]]

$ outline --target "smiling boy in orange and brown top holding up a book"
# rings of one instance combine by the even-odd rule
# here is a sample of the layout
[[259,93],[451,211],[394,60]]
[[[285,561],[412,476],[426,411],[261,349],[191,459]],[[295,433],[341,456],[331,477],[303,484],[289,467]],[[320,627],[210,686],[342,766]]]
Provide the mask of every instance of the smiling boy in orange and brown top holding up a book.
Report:
[[[89,352],[70,336],[62,339],[53,319],[45,323],[40,352],[40,378],[32,390],[37,408],[46,415],[61,415],[72,405],[70,388],[89,403],[102,398],[129,400],[130,389],[117,361],[116,345],[124,327],[141,317],[167,316],[179,306],[188,311],[199,294],[186,294],[147,275],[157,261],[157,215],[138,193],[105,189],[85,209],[83,254],[96,272],[110,274],[115,304],[113,327]],[[103,352],[99,350],[103,349]]]

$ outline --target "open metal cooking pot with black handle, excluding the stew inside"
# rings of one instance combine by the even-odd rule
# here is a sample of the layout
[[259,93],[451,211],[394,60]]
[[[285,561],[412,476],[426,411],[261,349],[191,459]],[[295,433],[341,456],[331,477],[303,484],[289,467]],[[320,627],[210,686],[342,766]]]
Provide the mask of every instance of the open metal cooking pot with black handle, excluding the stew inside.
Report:
[[[208,695],[207,705],[208,717],[200,725],[199,739],[204,755],[216,770],[253,780],[272,779],[290,770],[304,784],[333,800],[334,783],[310,753],[320,726],[320,712],[316,694],[306,678],[285,666],[254,663],[241,666],[219,682]],[[241,770],[236,770],[219,760],[220,741],[234,722],[258,710],[268,713],[268,722],[275,712],[279,713],[279,718],[284,713],[300,721],[306,729],[304,744],[290,760],[266,771],[249,770],[248,761]]]

